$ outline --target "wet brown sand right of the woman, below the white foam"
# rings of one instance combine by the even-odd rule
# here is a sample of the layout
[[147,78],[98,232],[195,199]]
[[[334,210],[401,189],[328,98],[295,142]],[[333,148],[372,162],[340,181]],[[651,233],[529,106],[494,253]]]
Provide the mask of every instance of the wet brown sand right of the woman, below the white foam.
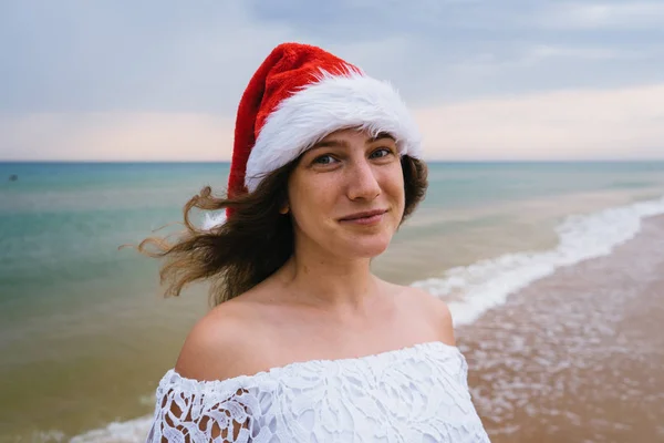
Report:
[[664,217],[457,338],[494,443],[664,442]]

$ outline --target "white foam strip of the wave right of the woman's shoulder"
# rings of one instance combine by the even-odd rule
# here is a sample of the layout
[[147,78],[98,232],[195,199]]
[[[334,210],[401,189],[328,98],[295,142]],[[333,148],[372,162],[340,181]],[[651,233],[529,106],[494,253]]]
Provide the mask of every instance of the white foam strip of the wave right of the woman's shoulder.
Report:
[[559,244],[554,249],[506,254],[448,269],[440,278],[415,281],[413,286],[448,300],[455,326],[468,324],[557,268],[611,254],[639,233],[644,217],[658,214],[664,214],[664,197],[571,215],[556,229]]

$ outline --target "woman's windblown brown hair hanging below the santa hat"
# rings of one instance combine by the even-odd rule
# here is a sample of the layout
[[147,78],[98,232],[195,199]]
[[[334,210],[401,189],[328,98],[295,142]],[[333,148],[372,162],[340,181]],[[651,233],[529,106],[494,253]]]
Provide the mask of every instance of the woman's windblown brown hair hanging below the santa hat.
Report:
[[[164,258],[159,270],[166,297],[179,296],[195,281],[210,281],[210,301],[219,305],[243,293],[271,276],[293,254],[293,226],[290,214],[279,209],[288,202],[288,179],[299,158],[267,175],[253,193],[220,198],[204,187],[184,207],[186,231],[174,244],[148,237],[137,249],[149,257]],[[402,223],[424,199],[427,167],[424,162],[404,155],[401,159],[405,187]],[[190,222],[194,208],[235,210],[225,224],[203,230]],[[155,246],[156,251],[147,249]]]

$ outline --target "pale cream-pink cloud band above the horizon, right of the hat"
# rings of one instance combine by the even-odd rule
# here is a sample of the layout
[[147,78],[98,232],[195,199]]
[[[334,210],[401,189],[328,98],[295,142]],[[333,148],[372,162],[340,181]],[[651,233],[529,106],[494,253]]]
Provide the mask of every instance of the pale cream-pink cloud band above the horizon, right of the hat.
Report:
[[664,83],[477,100],[417,111],[442,159],[664,159]]

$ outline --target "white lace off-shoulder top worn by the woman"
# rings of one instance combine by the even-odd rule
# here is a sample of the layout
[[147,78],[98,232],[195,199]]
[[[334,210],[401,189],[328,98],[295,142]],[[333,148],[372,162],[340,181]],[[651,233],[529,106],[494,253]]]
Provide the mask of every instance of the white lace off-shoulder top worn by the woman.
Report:
[[488,442],[456,347],[427,342],[197,381],[169,370],[148,442]]

